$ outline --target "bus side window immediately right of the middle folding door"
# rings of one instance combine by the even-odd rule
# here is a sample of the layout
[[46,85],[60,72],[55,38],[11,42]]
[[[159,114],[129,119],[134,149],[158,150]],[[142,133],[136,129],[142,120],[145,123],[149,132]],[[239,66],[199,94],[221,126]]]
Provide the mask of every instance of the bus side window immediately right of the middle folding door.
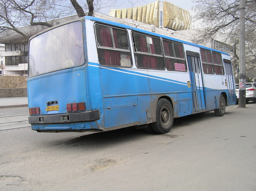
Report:
[[200,49],[204,74],[214,74],[211,51]]

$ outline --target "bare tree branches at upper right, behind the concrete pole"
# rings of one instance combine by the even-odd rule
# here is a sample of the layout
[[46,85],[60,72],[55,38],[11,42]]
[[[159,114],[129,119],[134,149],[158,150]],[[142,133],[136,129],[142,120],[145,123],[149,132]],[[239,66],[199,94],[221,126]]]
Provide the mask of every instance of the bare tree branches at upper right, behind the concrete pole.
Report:
[[[239,60],[239,0],[194,0],[201,29],[195,42],[206,42],[217,34],[226,34],[228,44],[234,46],[234,56]],[[256,1],[245,1],[246,69],[249,75],[256,74]]]

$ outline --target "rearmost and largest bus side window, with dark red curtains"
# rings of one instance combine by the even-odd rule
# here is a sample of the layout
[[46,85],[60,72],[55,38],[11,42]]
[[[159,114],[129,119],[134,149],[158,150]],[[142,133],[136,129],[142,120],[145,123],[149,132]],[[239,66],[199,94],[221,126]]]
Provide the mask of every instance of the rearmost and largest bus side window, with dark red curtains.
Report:
[[125,30],[96,24],[98,60],[101,65],[131,67],[128,36]]

